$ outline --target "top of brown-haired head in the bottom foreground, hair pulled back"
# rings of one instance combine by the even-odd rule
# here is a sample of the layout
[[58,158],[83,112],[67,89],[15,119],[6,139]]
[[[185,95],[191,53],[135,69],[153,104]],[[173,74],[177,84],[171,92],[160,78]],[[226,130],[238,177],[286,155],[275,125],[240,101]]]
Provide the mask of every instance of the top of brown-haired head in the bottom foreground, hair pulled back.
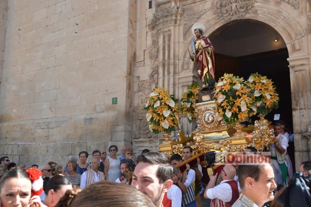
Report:
[[156,207],[151,199],[130,185],[100,181],[81,189],[66,191],[55,207]]

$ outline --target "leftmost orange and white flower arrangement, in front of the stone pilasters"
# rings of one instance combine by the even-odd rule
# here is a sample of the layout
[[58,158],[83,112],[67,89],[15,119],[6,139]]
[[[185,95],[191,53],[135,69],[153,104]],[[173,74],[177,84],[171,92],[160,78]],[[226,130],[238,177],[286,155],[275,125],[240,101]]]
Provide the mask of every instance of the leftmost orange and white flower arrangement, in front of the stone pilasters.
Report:
[[144,110],[147,111],[146,119],[151,132],[171,133],[179,126],[180,109],[178,99],[169,95],[165,88],[154,88],[147,98]]

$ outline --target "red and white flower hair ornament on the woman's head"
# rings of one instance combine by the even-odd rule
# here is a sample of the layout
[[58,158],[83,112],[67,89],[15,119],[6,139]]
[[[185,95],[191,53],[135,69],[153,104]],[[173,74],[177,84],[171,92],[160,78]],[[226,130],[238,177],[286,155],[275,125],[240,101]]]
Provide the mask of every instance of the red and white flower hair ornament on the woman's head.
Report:
[[26,170],[31,180],[31,196],[40,196],[43,192],[42,173],[39,169],[30,168]]

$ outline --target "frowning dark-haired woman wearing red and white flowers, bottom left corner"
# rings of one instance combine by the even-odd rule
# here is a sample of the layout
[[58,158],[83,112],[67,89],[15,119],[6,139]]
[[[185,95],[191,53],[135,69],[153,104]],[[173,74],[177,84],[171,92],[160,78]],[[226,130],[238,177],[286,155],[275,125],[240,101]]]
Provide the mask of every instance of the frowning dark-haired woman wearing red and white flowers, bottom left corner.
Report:
[[43,191],[41,175],[40,170],[36,168],[14,168],[8,171],[0,181],[1,207],[42,206],[38,196]]

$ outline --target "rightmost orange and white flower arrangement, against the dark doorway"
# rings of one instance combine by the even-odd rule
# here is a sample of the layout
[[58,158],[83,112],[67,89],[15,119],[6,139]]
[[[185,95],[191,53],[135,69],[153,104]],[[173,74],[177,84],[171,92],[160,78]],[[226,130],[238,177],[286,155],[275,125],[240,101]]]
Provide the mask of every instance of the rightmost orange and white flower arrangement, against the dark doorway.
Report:
[[253,73],[249,76],[247,83],[251,88],[253,102],[256,104],[258,113],[267,115],[272,109],[279,107],[279,95],[271,79]]

